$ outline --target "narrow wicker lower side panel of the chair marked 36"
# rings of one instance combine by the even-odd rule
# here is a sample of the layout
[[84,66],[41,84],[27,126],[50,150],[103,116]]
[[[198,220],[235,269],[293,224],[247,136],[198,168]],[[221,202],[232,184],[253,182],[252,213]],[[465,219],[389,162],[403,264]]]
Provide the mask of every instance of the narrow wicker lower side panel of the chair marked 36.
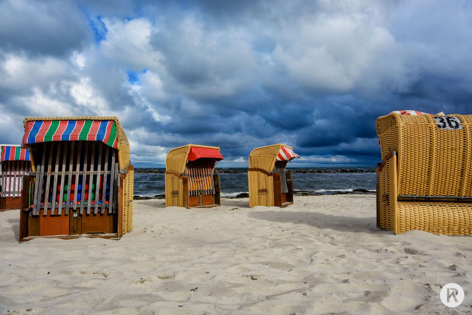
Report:
[[[396,156],[391,157],[380,172],[380,228],[395,230],[396,208]],[[382,200],[382,196],[388,200]]]

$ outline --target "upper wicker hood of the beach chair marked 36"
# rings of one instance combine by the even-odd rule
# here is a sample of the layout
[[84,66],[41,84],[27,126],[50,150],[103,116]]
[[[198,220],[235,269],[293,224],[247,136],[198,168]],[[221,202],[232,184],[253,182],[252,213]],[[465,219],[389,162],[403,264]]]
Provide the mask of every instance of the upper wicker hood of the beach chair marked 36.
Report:
[[462,128],[438,128],[434,116],[390,114],[377,119],[382,157],[398,154],[398,194],[472,196],[472,115],[452,115]]

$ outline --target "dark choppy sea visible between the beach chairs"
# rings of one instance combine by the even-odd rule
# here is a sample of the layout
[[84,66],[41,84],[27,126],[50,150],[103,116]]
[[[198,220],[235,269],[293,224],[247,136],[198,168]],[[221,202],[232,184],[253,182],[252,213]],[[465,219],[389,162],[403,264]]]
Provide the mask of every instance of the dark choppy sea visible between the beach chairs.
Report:
[[[354,192],[365,189],[375,192],[375,173],[295,173],[296,170],[370,170],[375,167],[327,167],[327,168],[290,168],[293,171],[294,194],[308,192],[311,194],[334,194],[336,192]],[[136,170],[165,170],[164,168],[136,168]],[[238,170],[235,173],[219,173],[221,196],[231,197],[248,193],[247,168],[217,168],[217,170]],[[135,173],[134,195],[156,196],[165,194],[164,174]]]

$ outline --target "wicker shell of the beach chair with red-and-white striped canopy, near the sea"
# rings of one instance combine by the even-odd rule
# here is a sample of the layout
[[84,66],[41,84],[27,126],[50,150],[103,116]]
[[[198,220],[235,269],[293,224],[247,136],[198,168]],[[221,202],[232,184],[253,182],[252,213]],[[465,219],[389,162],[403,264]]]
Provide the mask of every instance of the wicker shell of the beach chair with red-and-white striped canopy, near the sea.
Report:
[[[249,168],[262,169],[271,172],[277,161],[277,155],[283,144],[267,145],[254,149],[248,158]],[[290,149],[291,146],[283,145]],[[249,206],[256,205],[273,206],[274,205],[274,187],[273,179],[270,176],[258,171],[247,172],[249,185]],[[267,192],[260,192],[259,189],[267,189]]]

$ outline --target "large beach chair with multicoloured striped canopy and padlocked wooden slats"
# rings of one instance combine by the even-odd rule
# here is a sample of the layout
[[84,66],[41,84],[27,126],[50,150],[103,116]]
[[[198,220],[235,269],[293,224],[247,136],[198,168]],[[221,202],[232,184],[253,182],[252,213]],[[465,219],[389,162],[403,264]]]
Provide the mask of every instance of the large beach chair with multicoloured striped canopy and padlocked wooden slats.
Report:
[[117,117],[28,117],[19,240],[119,239],[133,229],[133,165]]

